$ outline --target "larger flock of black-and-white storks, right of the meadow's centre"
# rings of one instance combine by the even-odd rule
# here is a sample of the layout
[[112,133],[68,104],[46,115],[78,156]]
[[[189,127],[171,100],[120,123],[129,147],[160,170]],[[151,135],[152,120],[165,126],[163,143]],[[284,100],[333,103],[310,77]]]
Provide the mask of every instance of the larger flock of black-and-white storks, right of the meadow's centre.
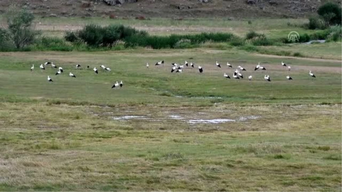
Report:
[[[159,66],[159,65],[163,65],[164,66],[164,60],[161,60],[161,61],[158,61],[155,66]],[[171,63],[171,65],[173,66],[171,68],[171,73],[173,72],[183,72],[183,69],[184,69],[184,65],[186,67],[189,67],[189,64],[187,61],[185,61],[185,64],[184,65],[180,65],[180,64],[176,64],[176,63]],[[194,63],[190,62],[190,67],[194,68]],[[216,67],[218,68],[221,68],[221,65],[216,61]],[[281,66],[284,68],[284,67],[287,67],[287,70],[290,71],[291,70],[291,66],[287,66],[284,62],[281,61]],[[146,67],[149,68],[149,65],[148,63],[146,64]],[[229,62],[227,62],[227,67],[229,68],[233,68],[233,66],[231,64],[229,64]],[[260,63],[258,63],[257,66],[255,66],[254,68],[254,71],[257,71],[257,70],[265,70],[266,71],[266,68],[261,66]],[[198,65],[198,71],[200,73],[203,73],[203,68],[201,66]],[[247,71],[244,67],[241,67],[241,66],[238,66],[237,69],[234,71],[233,73],[233,78],[234,79],[243,79],[244,76],[242,75],[242,71]],[[316,78],[315,74],[313,74],[311,71],[309,72],[309,76],[313,77],[313,78]],[[227,73],[224,73],[223,74],[223,77],[224,78],[227,78],[227,79],[231,79],[231,77],[227,74]],[[248,76],[248,80],[251,81],[252,80],[252,76]],[[287,80],[293,80],[292,77],[290,77],[289,75],[286,76],[286,79]],[[265,75],[264,76],[264,80],[265,81],[271,81],[271,78],[269,77],[269,75]]]

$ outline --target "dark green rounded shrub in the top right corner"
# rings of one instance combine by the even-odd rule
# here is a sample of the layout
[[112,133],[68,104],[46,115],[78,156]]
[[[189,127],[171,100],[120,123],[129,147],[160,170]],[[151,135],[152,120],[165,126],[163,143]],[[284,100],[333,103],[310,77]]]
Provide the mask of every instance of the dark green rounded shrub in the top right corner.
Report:
[[326,27],[342,24],[342,10],[336,3],[325,3],[318,8],[317,13],[324,20]]

